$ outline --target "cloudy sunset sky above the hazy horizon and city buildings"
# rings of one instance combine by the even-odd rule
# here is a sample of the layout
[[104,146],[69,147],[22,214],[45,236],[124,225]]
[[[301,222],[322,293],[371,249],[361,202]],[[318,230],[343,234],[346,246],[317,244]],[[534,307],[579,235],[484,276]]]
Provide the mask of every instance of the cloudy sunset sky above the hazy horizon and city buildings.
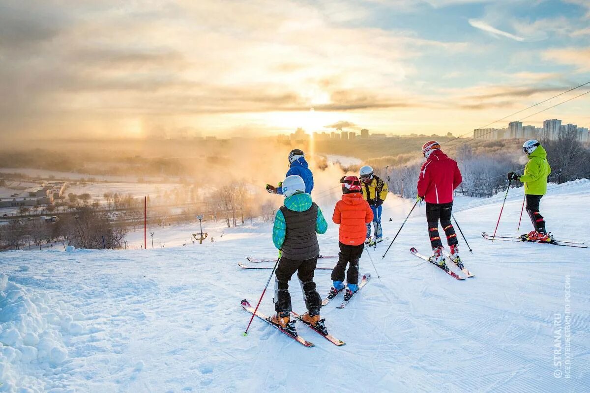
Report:
[[458,135],[588,81],[587,0],[0,3],[2,138]]

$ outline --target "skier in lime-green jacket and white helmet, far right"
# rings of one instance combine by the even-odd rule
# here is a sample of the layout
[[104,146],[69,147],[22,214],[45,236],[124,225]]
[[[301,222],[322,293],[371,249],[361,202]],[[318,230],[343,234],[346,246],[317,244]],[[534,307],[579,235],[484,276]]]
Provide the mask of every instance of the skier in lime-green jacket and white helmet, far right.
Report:
[[525,166],[525,174],[519,176],[514,172],[508,174],[508,179],[525,183],[526,212],[529,213],[535,230],[527,235],[522,235],[526,240],[551,242],[552,236],[545,229],[545,219],[539,213],[539,203],[543,195],[547,193],[547,177],[551,174],[551,167],[547,161],[547,152],[539,141],[531,139],[525,142],[522,150],[529,156],[529,162]]

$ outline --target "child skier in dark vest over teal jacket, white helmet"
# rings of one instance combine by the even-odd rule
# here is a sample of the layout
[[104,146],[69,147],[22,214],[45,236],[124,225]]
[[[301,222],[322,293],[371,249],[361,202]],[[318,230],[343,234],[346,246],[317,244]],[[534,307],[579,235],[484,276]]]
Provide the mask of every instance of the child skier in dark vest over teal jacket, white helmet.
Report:
[[320,252],[316,233],[326,233],[327,223],[322,210],[312,202],[312,197],[305,190],[306,184],[300,176],[286,177],[281,185],[285,204],[277,210],[273,228],[273,243],[278,249],[280,262],[274,281],[276,315],[271,317],[271,322],[293,334],[296,334],[296,331],[295,321],[290,321],[289,280],[295,272],[307,306],[307,312],[302,318],[319,330],[326,331],[324,319],[320,318],[322,298],[316,291],[313,274]]

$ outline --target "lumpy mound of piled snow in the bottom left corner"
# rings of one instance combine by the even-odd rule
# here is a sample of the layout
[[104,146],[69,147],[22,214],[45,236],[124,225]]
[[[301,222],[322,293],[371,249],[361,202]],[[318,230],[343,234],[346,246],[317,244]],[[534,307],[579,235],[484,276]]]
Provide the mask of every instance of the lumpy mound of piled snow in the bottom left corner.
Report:
[[61,321],[69,316],[48,302],[0,273],[0,391],[45,392],[47,374],[61,374],[68,358]]

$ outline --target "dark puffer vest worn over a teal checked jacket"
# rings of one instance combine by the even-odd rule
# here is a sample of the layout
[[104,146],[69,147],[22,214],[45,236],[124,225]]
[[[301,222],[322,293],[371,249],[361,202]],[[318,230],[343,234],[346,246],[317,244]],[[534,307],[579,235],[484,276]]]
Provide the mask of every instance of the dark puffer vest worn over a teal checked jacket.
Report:
[[287,232],[283,242],[283,256],[291,260],[306,260],[316,257],[320,253],[317,244],[316,220],[317,204],[312,202],[312,207],[305,212],[294,212],[281,207],[281,212],[287,223]]

